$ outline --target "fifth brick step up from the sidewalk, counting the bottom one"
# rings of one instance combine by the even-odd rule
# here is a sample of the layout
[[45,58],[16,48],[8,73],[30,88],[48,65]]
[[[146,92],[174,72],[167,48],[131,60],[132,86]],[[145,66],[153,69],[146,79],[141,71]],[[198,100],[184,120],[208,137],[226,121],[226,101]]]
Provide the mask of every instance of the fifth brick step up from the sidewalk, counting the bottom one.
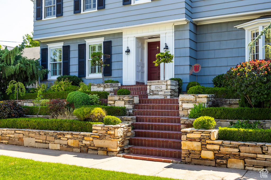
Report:
[[132,123],[135,129],[157,131],[181,131],[180,123]]

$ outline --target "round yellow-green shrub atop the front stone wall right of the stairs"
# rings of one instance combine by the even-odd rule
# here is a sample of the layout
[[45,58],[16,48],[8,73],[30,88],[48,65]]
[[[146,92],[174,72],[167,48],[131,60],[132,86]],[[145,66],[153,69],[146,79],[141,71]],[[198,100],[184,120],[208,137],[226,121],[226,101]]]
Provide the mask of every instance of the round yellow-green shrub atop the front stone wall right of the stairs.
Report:
[[215,125],[215,119],[209,116],[196,118],[193,123],[193,127],[196,129],[213,129]]

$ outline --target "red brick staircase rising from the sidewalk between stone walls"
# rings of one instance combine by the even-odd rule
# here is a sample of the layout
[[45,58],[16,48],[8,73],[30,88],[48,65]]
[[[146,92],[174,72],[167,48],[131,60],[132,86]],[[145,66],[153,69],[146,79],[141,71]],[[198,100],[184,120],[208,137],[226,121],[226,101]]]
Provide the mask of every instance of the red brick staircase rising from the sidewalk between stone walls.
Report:
[[130,138],[130,154],[122,157],[160,162],[181,161],[178,99],[140,99],[139,104],[135,105],[134,116],[136,123],[132,125],[135,127],[135,137]]

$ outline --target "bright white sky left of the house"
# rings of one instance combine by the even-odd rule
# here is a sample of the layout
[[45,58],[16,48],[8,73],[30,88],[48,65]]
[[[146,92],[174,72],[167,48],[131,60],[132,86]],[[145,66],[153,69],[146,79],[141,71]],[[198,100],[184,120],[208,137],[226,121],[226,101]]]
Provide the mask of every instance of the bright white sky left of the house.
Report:
[[22,36],[33,31],[33,11],[30,0],[0,0],[1,45],[15,47],[21,44]]

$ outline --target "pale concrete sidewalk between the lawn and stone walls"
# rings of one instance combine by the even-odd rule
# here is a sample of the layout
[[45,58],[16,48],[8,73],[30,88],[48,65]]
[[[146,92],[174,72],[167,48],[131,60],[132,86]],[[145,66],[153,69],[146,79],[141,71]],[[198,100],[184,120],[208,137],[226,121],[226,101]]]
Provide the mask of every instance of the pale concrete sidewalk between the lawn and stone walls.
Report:
[[0,144],[0,155],[33,159],[35,161],[58,162],[89,168],[120,171],[140,175],[161,176],[184,180],[266,179],[260,178],[260,173],[257,171],[143,161],[121,157],[49,150],[43,148],[33,148],[7,144]]

